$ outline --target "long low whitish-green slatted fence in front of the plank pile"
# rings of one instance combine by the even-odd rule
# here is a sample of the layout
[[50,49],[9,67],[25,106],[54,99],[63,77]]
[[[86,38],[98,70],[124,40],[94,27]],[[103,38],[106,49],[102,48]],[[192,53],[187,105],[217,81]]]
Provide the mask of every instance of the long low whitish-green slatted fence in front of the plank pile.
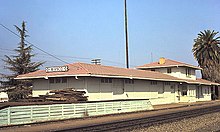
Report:
[[0,110],[0,126],[151,109],[149,100],[14,106]]

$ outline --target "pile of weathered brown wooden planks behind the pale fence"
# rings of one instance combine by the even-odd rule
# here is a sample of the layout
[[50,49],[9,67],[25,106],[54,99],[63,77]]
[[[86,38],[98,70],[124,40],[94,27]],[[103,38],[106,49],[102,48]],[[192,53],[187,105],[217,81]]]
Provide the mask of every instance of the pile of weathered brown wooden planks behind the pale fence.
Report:
[[85,91],[77,91],[73,88],[68,89],[60,89],[60,90],[52,90],[48,95],[40,95],[39,97],[31,97],[29,99],[25,99],[24,102],[80,102],[87,101],[87,97]]

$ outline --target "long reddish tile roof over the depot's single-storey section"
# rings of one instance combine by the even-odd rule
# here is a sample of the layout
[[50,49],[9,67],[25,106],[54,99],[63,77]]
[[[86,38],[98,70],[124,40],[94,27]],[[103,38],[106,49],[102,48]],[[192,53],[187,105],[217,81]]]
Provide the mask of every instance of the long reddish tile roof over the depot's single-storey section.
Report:
[[19,75],[16,79],[34,79],[48,77],[67,77],[67,76],[93,76],[93,77],[111,77],[111,78],[133,78],[159,81],[175,81],[189,83],[204,83],[210,85],[212,82],[202,82],[200,80],[184,80],[167,74],[155,71],[145,71],[136,69],[118,68],[112,66],[94,65],[86,63],[67,64],[67,72],[50,72],[39,70],[28,74]]

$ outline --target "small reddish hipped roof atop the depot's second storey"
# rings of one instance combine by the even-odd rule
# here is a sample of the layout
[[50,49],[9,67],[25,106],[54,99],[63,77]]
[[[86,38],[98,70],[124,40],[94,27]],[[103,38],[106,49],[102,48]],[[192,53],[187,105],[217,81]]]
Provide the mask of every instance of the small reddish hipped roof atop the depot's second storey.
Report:
[[176,66],[191,67],[191,68],[201,70],[200,67],[193,66],[193,65],[190,65],[190,64],[186,64],[186,63],[183,63],[183,62],[178,62],[178,61],[175,61],[175,60],[170,60],[170,59],[165,59],[164,64],[159,64],[159,62],[153,62],[153,63],[145,64],[145,65],[142,65],[142,66],[138,66],[136,68],[137,69],[151,69],[151,68],[176,67]]

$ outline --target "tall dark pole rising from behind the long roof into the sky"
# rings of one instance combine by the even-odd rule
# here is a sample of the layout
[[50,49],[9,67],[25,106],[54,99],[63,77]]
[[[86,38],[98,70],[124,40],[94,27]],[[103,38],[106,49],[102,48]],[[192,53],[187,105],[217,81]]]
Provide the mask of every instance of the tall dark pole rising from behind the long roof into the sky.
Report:
[[129,68],[129,58],[128,58],[128,21],[127,21],[127,4],[126,0],[124,0],[124,8],[125,8],[125,44],[126,44],[126,65]]

